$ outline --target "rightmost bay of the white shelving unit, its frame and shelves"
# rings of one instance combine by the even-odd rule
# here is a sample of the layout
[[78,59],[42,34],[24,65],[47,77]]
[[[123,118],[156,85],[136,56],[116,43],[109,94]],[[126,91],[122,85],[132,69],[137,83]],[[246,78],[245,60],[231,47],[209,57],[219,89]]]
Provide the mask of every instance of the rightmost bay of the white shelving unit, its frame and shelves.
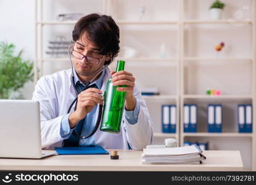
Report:
[[[186,2],[186,0],[182,1],[181,4],[181,9],[183,9],[184,7],[184,3]],[[228,1],[230,3],[230,1]],[[252,20],[247,21],[247,25],[250,25],[251,27],[251,31],[252,31],[252,56],[247,56],[244,55],[242,57],[231,57],[231,56],[218,56],[218,57],[200,57],[200,56],[188,56],[184,54],[184,50],[186,50],[186,48],[184,47],[184,43],[185,41],[188,41],[188,38],[185,40],[185,35],[189,34],[186,33],[186,28],[188,29],[189,25],[193,25],[194,27],[197,27],[197,25],[229,25],[231,26],[231,20],[181,20],[181,45],[183,46],[183,48],[181,49],[181,107],[183,107],[183,104],[188,103],[188,102],[192,102],[193,104],[202,104],[202,102],[204,103],[204,106],[201,106],[198,111],[202,112],[202,107],[205,107],[205,105],[207,103],[221,103],[221,104],[229,104],[230,102],[252,102],[253,107],[254,107],[254,111],[253,111],[253,117],[254,117],[254,128],[253,128],[253,133],[238,133],[238,131],[236,129],[233,128],[232,132],[227,131],[227,129],[225,129],[225,131],[223,131],[223,133],[208,133],[207,132],[207,128],[206,126],[204,126],[204,131],[202,132],[202,130],[198,131],[197,133],[184,133],[183,131],[183,109],[181,108],[181,119],[180,119],[180,143],[183,143],[185,141],[209,141],[209,143],[211,142],[215,142],[215,146],[217,146],[218,144],[221,145],[223,143],[230,143],[230,145],[236,145],[236,142],[238,143],[239,141],[242,141],[243,144],[246,144],[247,147],[249,147],[247,150],[249,152],[252,152],[250,154],[250,162],[252,163],[252,169],[255,170],[256,165],[255,165],[255,159],[256,159],[256,153],[255,153],[255,1],[252,0],[250,7],[252,7]],[[184,19],[184,9],[181,11],[181,17],[182,19]],[[242,22],[238,22],[241,23]],[[202,28],[202,27],[200,27]],[[214,29],[213,26],[209,29]],[[217,29],[217,28],[216,28]],[[232,27],[232,29],[236,29],[235,26]],[[223,29],[224,30],[224,29]],[[228,33],[228,30],[225,31],[225,34]],[[237,35],[238,36],[238,35]],[[187,44],[187,43],[186,43]],[[248,43],[249,44],[249,43]],[[195,64],[197,67],[202,67],[202,65],[207,66],[209,65],[209,67],[212,67],[213,65],[225,65],[225,67],[229,66],[232,67],[232,65],[250,65],[251,66],[251,75],[250,75],[250,80],[251,80],[251,86],[252,89],[250,91],[249,94],[240,94],[236,92],[232,92],[233,94],[221,94],[220,96],[209,96],[206,94],[194,94],[194,93],[188,93],[188,83],[185,83],[185,76],[186,76],[186,70],[185,68],[189,68],[191,66],[189,66],[188,64]],[[195,67],[196,68],[196,67]],[[244,73],[248,73],[250,71],[244,72]],[[239,86],[237,86],[237,88],[239,88]],[[206,89],[205,89],[206,91]],[[225,109],[225,107],[224,107]],[[206,110],[206,109],[205,109]],[[205,112],[204,110],[204,112]],[[234,115],[236,114],[236,112],[234,112]],[[197,113],[197,119],[201,119],[199,116],[199,113]],[[205,119],[204,119],[205,120]],[[234,120],[234,119],[233,119]],[[206,124],[206,123],[204,123]],[[230,125],[236,125],[237,123],[226,123],[226,124],[230,124]],[[199,126],[199,124],[197,124]],[[202,124],[201,124],[202,125]],[[206,132],[205,132],[206,131]],[[218,140],[218,142],[216,142],[216,140]],[[231,143],[231,141],[234,140],[234,143]],[[221,141],[221,143],[219,142]],[[223,144],[223,146],[227,147],[228,144]],[[242,145],[240,143],[240,148],[242,149]],[[214,145],[214,144],[213,144]],[[222,147],[222,149],[225,149],[225,147]],[[242,151],[243,152],[243,151]],[[245,161],[245,157],[242,155],[243,160]],[[247,163],[249,163],[247,161]],[[248,168],[248,167],[246,167]]]

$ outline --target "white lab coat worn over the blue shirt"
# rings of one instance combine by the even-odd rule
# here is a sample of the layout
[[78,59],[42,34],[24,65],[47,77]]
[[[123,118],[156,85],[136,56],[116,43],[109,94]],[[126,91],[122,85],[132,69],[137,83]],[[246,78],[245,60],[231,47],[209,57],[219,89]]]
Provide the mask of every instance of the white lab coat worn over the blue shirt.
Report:
[[[101,91],[104,92],[109,78],[110,70],[106,68]],[[123,114],[120,133],[102,132],[98,128],[94,134],[96,145],[105,149],[128,149],[129,143],[132,149],[142,150],[148,144],[151,144],[153,123],[146,103],[142,99],[141,91],[136,85],[133,94],[137,104],[140,105],[138,123],[131,125]],[[40,104],[41,142],[44,149],[62,146],[64,139],[60,136],[60,124],[75,97],[76,91],[72,84],[71,69],[46,75],[38,80],[32,99],[39,101]]]

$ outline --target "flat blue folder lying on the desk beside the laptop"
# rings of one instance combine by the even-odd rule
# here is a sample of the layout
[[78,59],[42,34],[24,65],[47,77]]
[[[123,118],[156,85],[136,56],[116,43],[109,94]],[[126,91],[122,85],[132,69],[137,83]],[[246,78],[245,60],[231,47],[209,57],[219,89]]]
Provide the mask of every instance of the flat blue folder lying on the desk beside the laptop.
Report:
[[102,155],[109,154],[107,150],[100,146],[96,147],[56,147],[59,155]]

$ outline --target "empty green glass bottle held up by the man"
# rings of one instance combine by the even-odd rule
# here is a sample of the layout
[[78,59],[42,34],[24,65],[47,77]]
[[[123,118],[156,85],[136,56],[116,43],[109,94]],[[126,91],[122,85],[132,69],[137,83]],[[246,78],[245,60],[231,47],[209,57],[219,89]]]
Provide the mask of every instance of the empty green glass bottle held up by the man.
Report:
[[[124,69],[125,61],[118,60],[116,72],[120,72]],[[109,133],[120,132],[126,92],[117,91],[118,87],[124,86],[114,86],[112,82],[112,77],[110,77],[107,81],[107,86],[103,97],[104,106],[100,128],[101,131],[106,131]]]

